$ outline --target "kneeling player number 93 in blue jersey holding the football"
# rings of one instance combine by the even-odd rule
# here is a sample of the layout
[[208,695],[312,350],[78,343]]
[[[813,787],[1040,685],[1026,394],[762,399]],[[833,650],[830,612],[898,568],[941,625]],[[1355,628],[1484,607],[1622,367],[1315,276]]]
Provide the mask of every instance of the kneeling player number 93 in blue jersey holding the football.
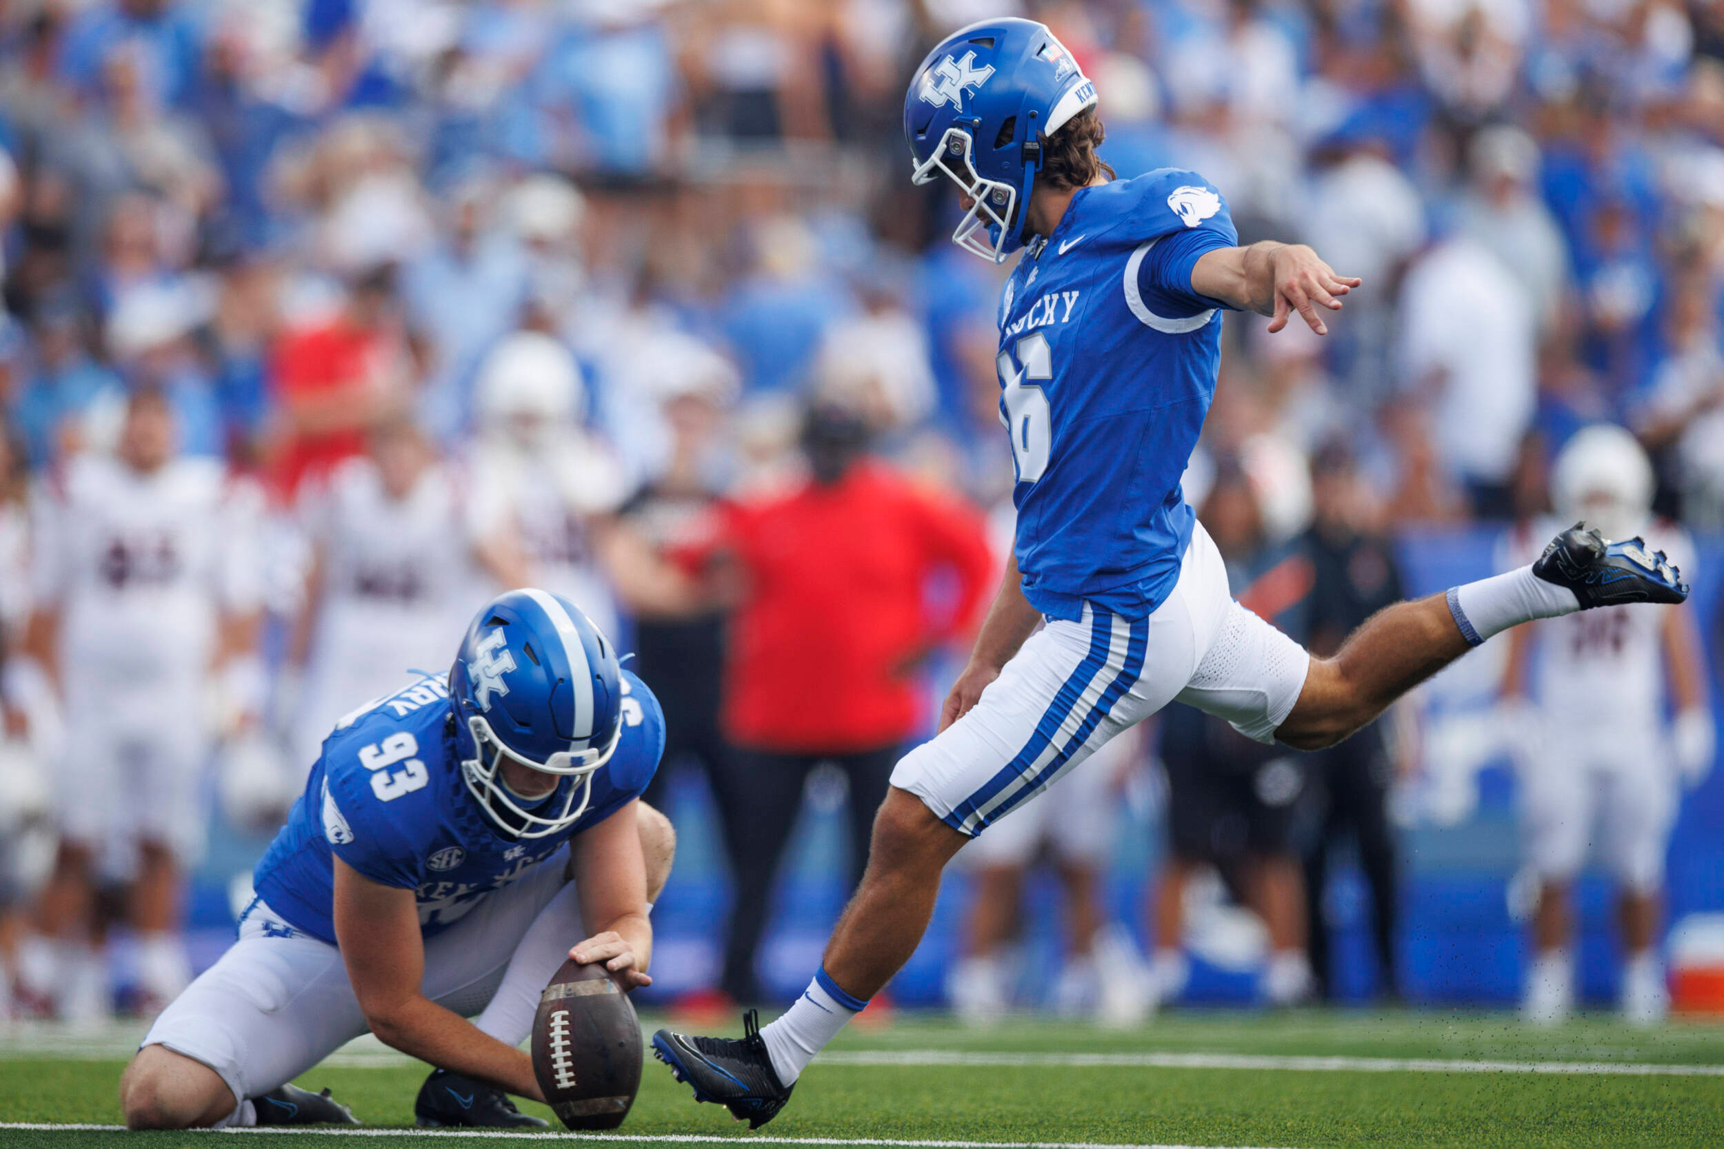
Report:
[[126,1125],[350,1123],[286,1082],[367,1030],[438,1066],[421,1125],[545,1125],[505,1092],[543,1099],[517,1046],[552,973],[572,956],[652,982],[672,834],[638,796],[662,748],[657,699],[572,603],[486,603],[447,677],[324,741],[240,941],[126,1070]]

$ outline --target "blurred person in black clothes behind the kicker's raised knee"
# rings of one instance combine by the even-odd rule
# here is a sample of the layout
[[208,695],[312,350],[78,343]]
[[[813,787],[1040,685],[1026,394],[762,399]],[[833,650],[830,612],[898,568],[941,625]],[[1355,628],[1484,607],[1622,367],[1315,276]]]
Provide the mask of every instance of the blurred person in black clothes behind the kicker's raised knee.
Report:
[[[1407,598],[1393,543],[1377,534],[1376,512],[1353,460],[1329,444],[1312,460],[1315,515],[1298,546],[1309,568],[1298,572],[1303,634],[1312,655],[1327,658],[1371,615]],[[1309,579],[1309,582],[1305,582]],[[1319,832],[1305,854],[1307,949],[1317,994],[1334,997],[1329,953],[1327,884],[1336,841],[1350,834],[1359,866],[1371,887],[1371,941],[1377,960],[1377,996],[1398,999],[1396,925],[1400,887],[1388,796],[1396,758],[1405,755],[1393,732],[1393,715],[1379,718],[1340,746],[1309,760]]]

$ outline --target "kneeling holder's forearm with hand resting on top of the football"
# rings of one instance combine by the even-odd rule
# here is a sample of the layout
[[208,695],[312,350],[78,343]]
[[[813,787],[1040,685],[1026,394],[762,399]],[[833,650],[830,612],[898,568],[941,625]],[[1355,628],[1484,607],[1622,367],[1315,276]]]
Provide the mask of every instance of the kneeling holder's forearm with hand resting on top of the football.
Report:
[[622,989],[652,985],[646,973],[652,961],[646,856],[634,810],[631,801],[569,842],[581,920],[593,929],[593,935],[576,944],[569,956],[583,965],[603,961]]

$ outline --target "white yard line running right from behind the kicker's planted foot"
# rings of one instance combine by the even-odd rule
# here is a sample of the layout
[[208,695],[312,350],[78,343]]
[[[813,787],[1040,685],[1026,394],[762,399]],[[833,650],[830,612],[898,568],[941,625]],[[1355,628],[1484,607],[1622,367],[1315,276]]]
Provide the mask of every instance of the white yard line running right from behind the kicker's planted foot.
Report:
[[1255,1053],[955,1053],[945,1049],[834,1051],[815,1065],[953,1065],[1143,1070],[1296,1070],[1303,1073],[1576,1073],[1626,1077],[1724,1077],[1724,1065],[1646,1061],[1465,1061],[1448,1058],[1343,1058]]

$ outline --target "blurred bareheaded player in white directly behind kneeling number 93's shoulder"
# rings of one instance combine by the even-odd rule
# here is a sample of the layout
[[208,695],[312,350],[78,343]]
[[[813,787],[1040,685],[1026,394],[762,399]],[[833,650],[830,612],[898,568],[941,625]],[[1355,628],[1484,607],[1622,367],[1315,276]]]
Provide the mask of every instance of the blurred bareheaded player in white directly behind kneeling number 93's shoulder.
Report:
[[302,696],[283,705],[297,710],[298,772],[355,703],[447,658],[443,636],[481,601],[481,563],[498,581],[515,574],[467,536],[460,477],[409,415],[386,415],[365,446],[307,484],[300,500],[312,560],[290,680],[298,679]]

